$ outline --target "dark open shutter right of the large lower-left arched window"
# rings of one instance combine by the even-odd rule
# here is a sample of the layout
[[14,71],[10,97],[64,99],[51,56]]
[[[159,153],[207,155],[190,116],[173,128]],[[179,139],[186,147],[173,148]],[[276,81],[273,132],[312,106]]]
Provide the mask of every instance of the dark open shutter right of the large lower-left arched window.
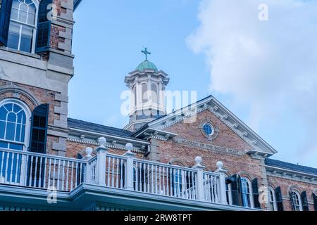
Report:
[[30,152],[46,153],[47,120],[49,105],[39,105],[32,113]]

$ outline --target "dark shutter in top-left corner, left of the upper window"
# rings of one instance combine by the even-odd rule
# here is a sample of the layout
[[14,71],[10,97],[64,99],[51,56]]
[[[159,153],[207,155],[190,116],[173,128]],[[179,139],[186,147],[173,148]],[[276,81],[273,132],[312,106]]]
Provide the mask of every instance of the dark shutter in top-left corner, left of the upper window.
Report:
[[12,0],[0,0],[0,45],[8,44]]

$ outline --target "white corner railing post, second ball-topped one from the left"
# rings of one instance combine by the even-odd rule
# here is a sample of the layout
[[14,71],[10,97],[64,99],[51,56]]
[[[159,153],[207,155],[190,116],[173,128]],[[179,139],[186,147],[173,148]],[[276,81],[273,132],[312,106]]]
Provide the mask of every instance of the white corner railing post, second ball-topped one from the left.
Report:
[[106,139],[101,137],[98,139],[99,147],[96,148],[97,151],[97,174],[96,180],[97,184],[100,186],[106,186],[106,153],[108,148],[104,146]]

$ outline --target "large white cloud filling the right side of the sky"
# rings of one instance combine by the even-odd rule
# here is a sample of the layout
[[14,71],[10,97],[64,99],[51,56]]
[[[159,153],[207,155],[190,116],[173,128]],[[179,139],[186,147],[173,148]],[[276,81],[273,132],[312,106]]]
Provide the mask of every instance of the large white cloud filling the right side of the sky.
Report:
[[[259,20],[259,4],[268,5],[268,21]],[[307,134],[296,155],[316,159],[316,1],[203,0],[199,22],[187,42],[207,56],[210,90],[249,104],[254,129],[292,111]]]

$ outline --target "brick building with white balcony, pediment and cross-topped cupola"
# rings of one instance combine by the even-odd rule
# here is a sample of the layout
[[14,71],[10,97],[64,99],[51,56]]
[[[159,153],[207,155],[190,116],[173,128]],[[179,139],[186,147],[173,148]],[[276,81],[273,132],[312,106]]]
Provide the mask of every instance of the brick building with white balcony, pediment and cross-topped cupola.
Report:
[[317,210],[316,168],[272,160],[213,96],[166,114],[147,58],[124,129],[68,118],[79,4],[0,0],[0,210]]

